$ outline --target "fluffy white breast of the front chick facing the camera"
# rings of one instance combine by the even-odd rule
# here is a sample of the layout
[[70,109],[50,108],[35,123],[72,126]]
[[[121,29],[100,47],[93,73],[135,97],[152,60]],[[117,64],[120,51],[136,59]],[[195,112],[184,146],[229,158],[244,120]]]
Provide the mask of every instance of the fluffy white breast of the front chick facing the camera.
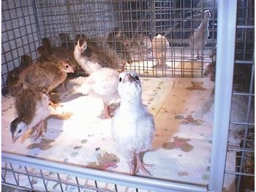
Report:
[[154,118],[145,107],[122,105],[112,121],[112,136],[117,149],[130,158],[130,152],[151,149],[154,134]]

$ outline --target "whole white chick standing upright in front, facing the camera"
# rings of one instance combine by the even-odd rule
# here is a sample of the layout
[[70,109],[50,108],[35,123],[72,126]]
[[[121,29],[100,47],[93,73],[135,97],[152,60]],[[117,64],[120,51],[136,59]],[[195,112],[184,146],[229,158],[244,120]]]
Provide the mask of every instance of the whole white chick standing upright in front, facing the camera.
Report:
[[155,131],[154,117],[143,105],[141,93],[140,78],[136,72],[119,75],[121,104],[113,117],[111,131],[117,150],[127,159],[131,174],[136,174],[139,169],[149,174],[146,164],[140,160],[140,153],[151,149]]

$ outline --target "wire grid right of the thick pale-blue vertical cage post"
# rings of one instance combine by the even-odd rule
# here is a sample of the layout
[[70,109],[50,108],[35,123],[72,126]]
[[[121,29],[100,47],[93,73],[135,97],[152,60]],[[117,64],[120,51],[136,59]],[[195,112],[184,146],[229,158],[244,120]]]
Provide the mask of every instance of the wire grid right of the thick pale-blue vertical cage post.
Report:
[[254,1],[238,1],[233,99],[227,148],[236,157],[236,168],[227,167],[225,170],[225,177],[236,177],[234,191],[255,191],[254,7]]

